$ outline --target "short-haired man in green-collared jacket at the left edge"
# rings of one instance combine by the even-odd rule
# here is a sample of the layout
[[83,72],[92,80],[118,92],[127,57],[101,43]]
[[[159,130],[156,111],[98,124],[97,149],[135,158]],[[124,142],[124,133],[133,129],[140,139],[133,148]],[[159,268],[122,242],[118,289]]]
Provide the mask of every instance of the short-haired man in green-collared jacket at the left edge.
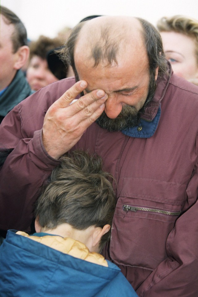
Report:
[[33,92],[20,70],[28,60],[26,29],[14,12],[0,10],[0,123],[6,114]]

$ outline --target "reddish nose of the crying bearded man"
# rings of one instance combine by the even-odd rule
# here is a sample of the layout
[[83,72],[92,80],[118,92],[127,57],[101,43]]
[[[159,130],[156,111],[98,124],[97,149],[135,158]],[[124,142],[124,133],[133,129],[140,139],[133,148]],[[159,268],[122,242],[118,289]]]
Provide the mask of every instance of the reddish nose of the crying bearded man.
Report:
[[110,119],[115,119],[122,111],[122,102],[116,95],[109,95],[105,102],[105,114]]

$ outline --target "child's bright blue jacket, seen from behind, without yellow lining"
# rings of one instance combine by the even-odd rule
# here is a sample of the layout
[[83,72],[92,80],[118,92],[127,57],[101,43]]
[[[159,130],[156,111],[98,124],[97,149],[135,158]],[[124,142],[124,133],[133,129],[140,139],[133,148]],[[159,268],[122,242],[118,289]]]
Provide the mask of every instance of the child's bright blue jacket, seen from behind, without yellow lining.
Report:
[[136,297],[120,269],[63,254],[9,230],[0,246],[1,297]]

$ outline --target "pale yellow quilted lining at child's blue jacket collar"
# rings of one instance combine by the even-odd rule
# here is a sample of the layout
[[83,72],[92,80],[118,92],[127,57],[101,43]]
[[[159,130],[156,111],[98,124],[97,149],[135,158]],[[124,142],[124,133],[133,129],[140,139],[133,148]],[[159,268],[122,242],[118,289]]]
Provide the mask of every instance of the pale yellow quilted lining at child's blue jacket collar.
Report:
[[29,236],[27,233],[18,231],[16,234],[28,237],[34,241],[37,241],[43,245],[47,245],[54,250],[58,250],[64,254],[68,254],[75,258],[79,258],[91,263],[102,265],[108,267],[108,263],[105,258],[98,253],[90,252],[84,243],[74,240],[69,237],[62,238],[61,236],[50,236],[45,235],[39,236]]

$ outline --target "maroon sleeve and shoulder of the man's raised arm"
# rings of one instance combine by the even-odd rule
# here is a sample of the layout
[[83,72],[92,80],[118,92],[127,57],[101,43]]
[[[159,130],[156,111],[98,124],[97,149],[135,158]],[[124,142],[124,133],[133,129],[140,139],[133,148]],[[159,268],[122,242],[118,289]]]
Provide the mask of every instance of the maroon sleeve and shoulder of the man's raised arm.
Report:
[[12,150],[0,169],[0,229],[28,230],[39,190],[60,163],[42,143],[45,113],[74,83],[68,78],[41,88],[0,124],[0,151]]

